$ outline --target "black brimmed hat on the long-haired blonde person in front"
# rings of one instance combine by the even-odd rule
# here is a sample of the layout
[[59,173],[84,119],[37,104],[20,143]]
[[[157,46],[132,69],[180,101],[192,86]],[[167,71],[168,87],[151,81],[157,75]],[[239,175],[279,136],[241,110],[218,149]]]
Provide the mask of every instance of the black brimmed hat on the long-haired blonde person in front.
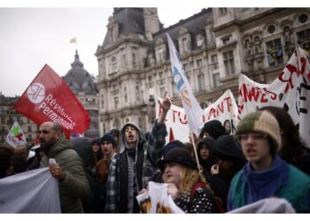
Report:
[[159,162],[157,163],[160,171],[164,171],[165,164],[167,163],[182,164],[197,170],[194,159],[190,156],[190,151],[184,148],[175,148],[167,152],[167,155],[165,155],[164,158],[162,160],[159,160]]

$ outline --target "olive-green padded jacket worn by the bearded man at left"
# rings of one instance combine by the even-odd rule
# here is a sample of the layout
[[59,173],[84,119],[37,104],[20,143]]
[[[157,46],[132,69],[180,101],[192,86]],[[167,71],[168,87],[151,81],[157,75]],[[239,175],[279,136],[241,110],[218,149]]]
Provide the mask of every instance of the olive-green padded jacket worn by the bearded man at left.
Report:
[[59,199],[62,213],[81,213],[81,199],[92,196],[89,181],[86,178],[81,157],[73,149],[65,135],[46,151],[40,167],[48,167],[49,159],[55,158],[57,164],[65,171],[65,179],[58,181]]

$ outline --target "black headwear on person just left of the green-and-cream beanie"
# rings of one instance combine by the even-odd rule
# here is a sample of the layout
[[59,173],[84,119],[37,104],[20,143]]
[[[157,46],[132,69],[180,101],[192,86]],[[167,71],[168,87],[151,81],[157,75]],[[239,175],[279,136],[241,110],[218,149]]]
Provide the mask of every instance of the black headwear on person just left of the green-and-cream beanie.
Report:
[[222,135],[213,144],[213,153],[219,159],[245,162],[240,143],[233,135]]

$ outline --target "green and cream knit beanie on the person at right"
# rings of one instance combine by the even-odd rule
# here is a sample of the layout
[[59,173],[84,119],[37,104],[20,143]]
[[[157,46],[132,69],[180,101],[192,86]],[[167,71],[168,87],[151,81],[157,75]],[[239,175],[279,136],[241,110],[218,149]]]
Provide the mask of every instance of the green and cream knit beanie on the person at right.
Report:
[[236,127],[236,135],[242,133],[267,133],[275,143],[275,148],[281,147],[280,128],[276,118],[268,111],[256,111],[246,115]]

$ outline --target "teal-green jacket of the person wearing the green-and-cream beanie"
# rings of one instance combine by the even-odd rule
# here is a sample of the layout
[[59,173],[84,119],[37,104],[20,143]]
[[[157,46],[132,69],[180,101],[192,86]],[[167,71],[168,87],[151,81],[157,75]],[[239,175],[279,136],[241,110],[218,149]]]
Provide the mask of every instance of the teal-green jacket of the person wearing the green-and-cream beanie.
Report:
[[[246,205],[245,203],[245,182],[243,170],[239,171],[234,179],[231,180],[228,210],[234,210]],[[288,183],[280,187],[274,196],[284,198],[291,202],[291,206],[296,212],[310,211],[310,177],[304,172],[289,164],[289,180]]]

